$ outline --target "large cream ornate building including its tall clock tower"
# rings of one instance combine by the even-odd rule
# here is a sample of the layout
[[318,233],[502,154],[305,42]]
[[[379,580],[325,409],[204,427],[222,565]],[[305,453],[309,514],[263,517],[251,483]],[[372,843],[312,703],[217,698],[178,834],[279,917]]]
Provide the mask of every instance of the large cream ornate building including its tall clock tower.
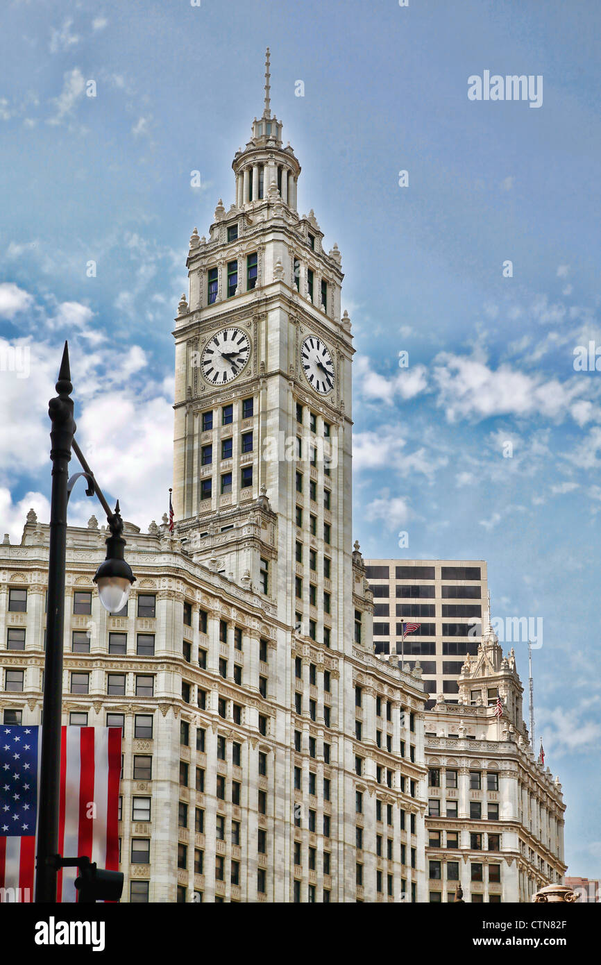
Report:
[[[70,528],[64,722],[123,728],[131,901],[424,901],[418,671],[373,653],[351,538],[341,253],[296,206],[265,103],[234,201],[193,232],[176,319],[174,504],[126,524],[123,613]],[[0,714],[41,720],[48,527],[0,546]]]

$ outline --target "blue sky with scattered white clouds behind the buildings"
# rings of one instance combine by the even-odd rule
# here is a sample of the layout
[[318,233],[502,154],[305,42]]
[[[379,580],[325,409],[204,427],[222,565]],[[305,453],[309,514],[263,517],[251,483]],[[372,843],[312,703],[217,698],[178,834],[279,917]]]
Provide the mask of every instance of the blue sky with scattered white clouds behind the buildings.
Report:
[[[19,538],[30,505],[47,519],[66,337],[99,480],[144,528],[166,509],[187,242],[232,203],[269,44],[299,209],[346,275],[356,536],[366,556],[486,559],[493,616],[543,620],[537,732],[568,805],[569,869],[599,877],[601,374],[575,371],[574,348],[601,348],[601,9],[8,0],[3,19],[2,532]],[[486,69],[542,75],[542,106],[469,100]],[[29,347],[28,377],[9,346]],[[71,518],[91,511],[79,497]]]

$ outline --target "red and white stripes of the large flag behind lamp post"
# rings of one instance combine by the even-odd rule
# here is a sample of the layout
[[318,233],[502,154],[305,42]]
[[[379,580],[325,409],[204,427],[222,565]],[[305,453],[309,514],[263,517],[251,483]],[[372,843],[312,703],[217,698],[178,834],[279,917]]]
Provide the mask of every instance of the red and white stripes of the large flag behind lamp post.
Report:
[[[38,788],[41,733],[39,736]],[[121,745],[121,728],[62,728],[59,854],[66,858],[86,855],[98,868],[112,871],[119,870]],[[33,901],[35,866],[33,835],[0,837],[0,888],[14,889],[21,901]],[[77,900],[78,873],[76,868],[59,869],[57,901]]]

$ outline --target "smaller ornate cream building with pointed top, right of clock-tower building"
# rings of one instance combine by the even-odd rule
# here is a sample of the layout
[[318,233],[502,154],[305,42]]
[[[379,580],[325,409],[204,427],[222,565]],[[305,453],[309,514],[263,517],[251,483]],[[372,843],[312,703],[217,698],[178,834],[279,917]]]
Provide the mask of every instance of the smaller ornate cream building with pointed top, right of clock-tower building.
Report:
[[441,694],[426,714],[430,901],[452,901],[459,885],[469,901],[530,901],[563,880],[561,785],[533,756],[522,692],[489,621],[458,703]]

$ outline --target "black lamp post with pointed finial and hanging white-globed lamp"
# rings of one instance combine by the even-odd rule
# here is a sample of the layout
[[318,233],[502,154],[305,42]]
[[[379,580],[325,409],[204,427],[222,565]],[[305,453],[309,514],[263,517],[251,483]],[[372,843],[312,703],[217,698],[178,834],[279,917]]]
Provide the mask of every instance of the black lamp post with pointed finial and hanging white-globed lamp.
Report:
[[[52,460],[52,494],[50,498],[50,548],[48,555],[48,601],[46,652],[43,687],[43,726],[41,728],[41,772],[38,815],[38,855],[36,901],[56,902],[57,871],[63,864],[58,854],[59,790],[61,773],[61,725],[63,713],[63,634],[65,628],[65,565],[67,556],[67,507],[73,485],[80,476],[88,481],[86,495],[96,494],[110,531],[106,540],[106,560],[98,566],[94,582],[100,602],[113,613],[121,610],[135,576],[123,559],[123,520],[119,503],[113,512],[104,498],[94,474],[73,438],[73,386],[65,343],[59,378],[58,396],[48,403],[50,459]],[[68,479],[71,450],[81,463],[83,472]],[[123,876],[122,876],[123,881]]]

